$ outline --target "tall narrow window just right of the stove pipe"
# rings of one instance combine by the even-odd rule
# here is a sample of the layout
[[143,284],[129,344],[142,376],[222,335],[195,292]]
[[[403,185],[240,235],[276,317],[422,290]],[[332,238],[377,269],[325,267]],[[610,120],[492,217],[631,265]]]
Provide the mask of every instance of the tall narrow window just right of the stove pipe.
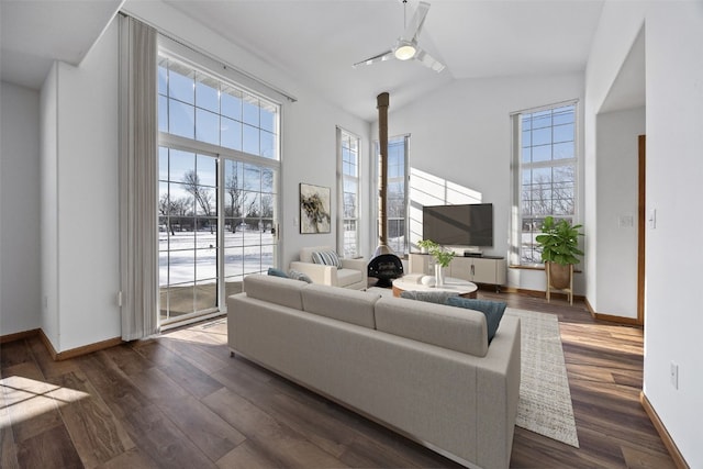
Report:
[[[408,144],[410,135],[388,139],[387,216],[388,245],[397,255],[409,253],[408,246]],[[376,143],[377,155],[378,142]],[[380,159],[378,174],[380,177]]]

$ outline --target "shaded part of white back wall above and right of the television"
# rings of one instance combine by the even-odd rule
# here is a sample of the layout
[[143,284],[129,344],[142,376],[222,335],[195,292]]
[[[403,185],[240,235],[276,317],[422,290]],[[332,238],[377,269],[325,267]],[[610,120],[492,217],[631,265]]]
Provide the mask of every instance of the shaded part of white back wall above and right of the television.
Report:
[[[482,202],[493,203],[494,246],[483,250],[509,258],[513,210],[510,114],[582,98],[581,72],[457,80],[401,110],[393,109],[391,96],[389,135],[411,134],[412,168],[477,191]],[[582,107],[580,110],[582,113]],[[581,186],[579,191],[582,196]],[[583,292],[582,279],[577,275],[577,293]],[[507,281],[510,287],[544,291],[546,277],[544,271],[509,269]]]

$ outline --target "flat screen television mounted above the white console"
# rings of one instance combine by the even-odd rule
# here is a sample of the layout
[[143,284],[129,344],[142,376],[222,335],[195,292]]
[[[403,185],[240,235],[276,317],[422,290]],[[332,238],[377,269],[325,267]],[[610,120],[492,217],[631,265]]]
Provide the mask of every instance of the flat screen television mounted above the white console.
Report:
[[448,246],[493,246],[493,204],[425,205],[422,237]]

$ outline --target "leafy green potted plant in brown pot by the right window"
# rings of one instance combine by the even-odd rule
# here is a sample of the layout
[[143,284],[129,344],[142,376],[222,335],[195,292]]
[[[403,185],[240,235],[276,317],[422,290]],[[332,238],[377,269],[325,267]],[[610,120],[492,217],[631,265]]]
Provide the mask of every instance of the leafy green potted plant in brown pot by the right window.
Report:
[[582,225],[571,225],[568,220],[556,222],[554,216],[547,216],[542,225],[542,234],[535,241],[542,249],[542,260],[550,273],[551,286],[563,290],[571,283],[571,267],[579,264],[577,256],[583,256],[579,249],[579,230]]

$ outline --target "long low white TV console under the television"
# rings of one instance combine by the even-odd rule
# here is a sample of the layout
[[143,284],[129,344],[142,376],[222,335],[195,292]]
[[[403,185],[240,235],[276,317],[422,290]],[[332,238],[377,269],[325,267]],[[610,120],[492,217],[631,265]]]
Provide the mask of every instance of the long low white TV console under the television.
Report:
[[[411,253],[409,255],[410,273],[434,275],[434,258],[428,254]],[[447,267],[446,275],[473,283],[494,284],[495,291],[500,291],[505,284],[507,263],[504,257],[455,257]]]

